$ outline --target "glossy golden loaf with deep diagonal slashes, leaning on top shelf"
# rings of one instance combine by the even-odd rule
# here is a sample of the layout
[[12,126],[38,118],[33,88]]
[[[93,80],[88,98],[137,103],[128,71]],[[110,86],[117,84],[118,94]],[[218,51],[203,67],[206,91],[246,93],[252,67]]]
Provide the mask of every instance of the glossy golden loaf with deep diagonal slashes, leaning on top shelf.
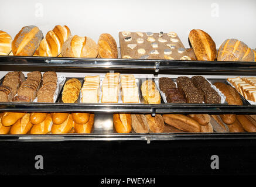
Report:
[[[38,47],[38,56],[57,57],[62,52],[63,43],[71,36],[69,27],[57,25],[47,32]],[[36,51],[37,51],[36,50]],[[35,54],[34,54],[35,55]]]

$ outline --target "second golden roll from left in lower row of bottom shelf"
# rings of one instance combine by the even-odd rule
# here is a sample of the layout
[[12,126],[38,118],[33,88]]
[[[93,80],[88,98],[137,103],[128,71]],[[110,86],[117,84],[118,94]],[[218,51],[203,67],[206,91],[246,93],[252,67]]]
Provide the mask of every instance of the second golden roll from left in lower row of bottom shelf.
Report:
[[17,120],[10,129],[11,134],[26,134],[33,124],[30,122],[30,113],[26,113],[22,118]]

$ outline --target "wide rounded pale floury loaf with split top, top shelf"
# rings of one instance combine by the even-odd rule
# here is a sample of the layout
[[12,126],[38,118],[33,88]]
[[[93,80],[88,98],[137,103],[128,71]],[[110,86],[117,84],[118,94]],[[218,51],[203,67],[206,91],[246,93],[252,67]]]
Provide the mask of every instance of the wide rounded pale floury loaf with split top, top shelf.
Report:
[[63,57],[95,58],[98,45],[90,37],[70,36],[62,46]]

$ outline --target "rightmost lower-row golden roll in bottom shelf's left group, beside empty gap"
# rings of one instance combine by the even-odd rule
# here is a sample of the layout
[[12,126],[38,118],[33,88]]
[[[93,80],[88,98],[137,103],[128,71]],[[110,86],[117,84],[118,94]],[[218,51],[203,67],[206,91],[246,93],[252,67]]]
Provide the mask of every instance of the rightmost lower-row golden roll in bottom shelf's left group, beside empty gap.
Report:
[[93,129],[93,123],[94,123],[94,114],[88,114],[88,116],[89,116],[89,119],[87,120],[86,123],[81,123],[81,121],[85,121],[85,120],[78,120],[80,123],[76,123],[76,121],[74,120],[75,122],[74,129],[76,130],[76,133],[91,133],[91,130]]

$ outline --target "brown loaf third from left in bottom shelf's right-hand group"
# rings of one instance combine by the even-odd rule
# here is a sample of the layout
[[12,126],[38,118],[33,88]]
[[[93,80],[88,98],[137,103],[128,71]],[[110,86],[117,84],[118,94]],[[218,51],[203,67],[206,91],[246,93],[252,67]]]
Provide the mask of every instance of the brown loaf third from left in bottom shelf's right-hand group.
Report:
[[148,126],[150,131],[153,133],[162,133],[165,129],[165,122],[163,121],[163,117],[161,115],[155,115],[154,117],[151,115],[145,115],[146,122],[148,122]]

